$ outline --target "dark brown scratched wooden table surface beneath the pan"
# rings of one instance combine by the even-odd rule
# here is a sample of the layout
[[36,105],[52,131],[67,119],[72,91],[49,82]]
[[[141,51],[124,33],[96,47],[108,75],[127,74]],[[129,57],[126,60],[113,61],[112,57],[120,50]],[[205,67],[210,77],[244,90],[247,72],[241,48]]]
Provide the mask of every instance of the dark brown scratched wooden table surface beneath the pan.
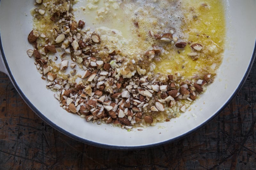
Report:
[[61,134],[26,105],[4,73],[0,112],[0,169],[256,169],[256,63],[212,122],[151,149],[108,150]]

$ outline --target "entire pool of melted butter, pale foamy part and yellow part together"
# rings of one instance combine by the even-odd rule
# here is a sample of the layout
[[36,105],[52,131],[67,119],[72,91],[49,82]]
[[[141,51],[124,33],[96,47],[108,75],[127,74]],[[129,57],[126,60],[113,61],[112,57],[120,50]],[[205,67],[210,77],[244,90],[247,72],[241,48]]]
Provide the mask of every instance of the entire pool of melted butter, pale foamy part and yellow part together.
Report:
[[[78,9],[77,20],[85,20],[92,30],[105,26],[121,31],[120,43],[125,45],[122,52],[128,54],[127,58],[136,58],[152,46],[160,48],[162,53],[153,60],[155,73],[179,73],[191,79],[214,74],[221,63],[225,17],[220,0],[87,0],[74,7]],[[149,30],[160,35],[172,31],[178,42],[200,43],[203,49],[193,60],[188,56],[193,52],[189,44],[184,49],[176,48],[174,43],[156,40],[148,34]]]

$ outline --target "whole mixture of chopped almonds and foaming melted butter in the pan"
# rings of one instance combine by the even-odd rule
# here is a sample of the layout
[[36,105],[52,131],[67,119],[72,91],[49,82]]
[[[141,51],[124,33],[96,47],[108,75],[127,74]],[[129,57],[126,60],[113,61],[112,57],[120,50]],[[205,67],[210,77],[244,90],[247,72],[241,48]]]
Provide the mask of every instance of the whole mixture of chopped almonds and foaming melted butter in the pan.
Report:
[[36,2],[27,54],[68,112],[127,130],[154,126],[188,111],[222,61],[222,4],[190,1]]

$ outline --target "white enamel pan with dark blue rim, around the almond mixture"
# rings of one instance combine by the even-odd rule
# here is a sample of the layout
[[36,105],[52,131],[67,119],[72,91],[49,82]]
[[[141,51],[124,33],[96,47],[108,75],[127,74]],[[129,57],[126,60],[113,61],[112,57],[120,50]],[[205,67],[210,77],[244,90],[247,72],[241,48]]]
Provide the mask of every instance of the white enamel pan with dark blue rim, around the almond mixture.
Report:
[[[184,137],[211,121],[227,106],[243,85],[255,58],[256,0],[223,0],[226,8],[227,42],[223,63],[215,81],[190,111],[170,122],[143,130],[127,131],[109,124],[86,122],[62,109],[47,90],[26,54],[32,30],[30,10],[34,0],[0,1],[1,71],[11,79],[29,107],[45,122],[78,141],[112,149],[141,149]],[[0,62],[1,63],[1,62]]]

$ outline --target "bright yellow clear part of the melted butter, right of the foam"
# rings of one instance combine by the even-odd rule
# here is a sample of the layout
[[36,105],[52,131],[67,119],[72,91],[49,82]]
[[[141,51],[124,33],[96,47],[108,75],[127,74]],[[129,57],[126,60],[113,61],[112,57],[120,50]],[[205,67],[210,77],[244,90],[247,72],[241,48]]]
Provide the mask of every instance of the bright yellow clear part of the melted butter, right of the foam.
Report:
[[[190,6],[190,4],[194,5]],[[225,15],[223,5],[220,0],[189,0],[183,8],[187,11],[185,24],[182,27],[182,31],[188,37],[185,42],[202,44],[204,54],[201,53],[197,60],[193,60],[188,56],[188,53],[192,51],[189,45],[185,49],[174,47],[170,50],[172,51],[171,55],[165,55],[160,62],[157,62],[155,71],[179,72],[186,78],[202,77],[207,72],[214,73],[221,63],[224,48]],[[215,46],[217,49],[211,52]]]

